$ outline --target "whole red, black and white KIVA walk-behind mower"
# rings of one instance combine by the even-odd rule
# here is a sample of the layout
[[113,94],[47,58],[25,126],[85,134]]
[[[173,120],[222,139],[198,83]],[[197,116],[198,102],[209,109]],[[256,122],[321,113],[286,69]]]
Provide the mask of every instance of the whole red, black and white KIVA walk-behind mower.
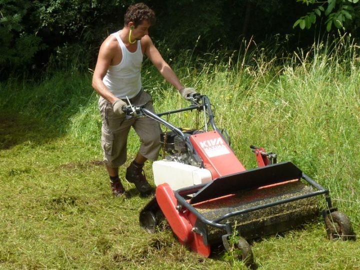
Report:
[[[161,133],[164,159],[153,162],[155,196],[141,210],[139,221],[155,232],[165,218],[181,244],[209,256],[222,242],[226,250],[240,249],[240,259],[251,264],[246,239],[258,238],[304,224],[318,214],[317,198],[329,238],[354,238],[348,217],[331,204],[328,190],[291,162],[276,163],[276,154],[250,146],[257,168],[245,169],[230,147],[227,132],[214,123],[209,99],[189,97],[189,107],[154,114],[142,106],[127,107],[130,115],[159,121],[169,131]],[[196,111],[204,126],[178,128],[161,118],[182,111]],[[238,240],[229,237],[238,232]]]

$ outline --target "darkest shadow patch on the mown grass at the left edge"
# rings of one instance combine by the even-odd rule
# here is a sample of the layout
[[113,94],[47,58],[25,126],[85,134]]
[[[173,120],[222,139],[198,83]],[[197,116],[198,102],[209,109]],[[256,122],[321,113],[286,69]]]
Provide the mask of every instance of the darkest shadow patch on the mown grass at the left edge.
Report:
[[61,133],[48,122],[14,112],[0,111],[0,150],[10,149],[25,141],[44,143]]

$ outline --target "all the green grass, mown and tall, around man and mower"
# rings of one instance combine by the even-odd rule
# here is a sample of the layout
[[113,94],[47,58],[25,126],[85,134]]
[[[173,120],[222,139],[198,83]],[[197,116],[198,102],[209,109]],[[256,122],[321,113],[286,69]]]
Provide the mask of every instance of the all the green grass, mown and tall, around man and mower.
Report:
[[[210,97],[217,125],[227,129],[245,167],[255,166],[250,144],[277,152],[328,188],[359,231],[356,44],[341,38],[278,58],[250,43],[193,63],[175,60],[181,80]],[[143,76],[157,111],[186,105],[153,67],[146,65]],[[58,73],[40,83],[8,80],[0,87],[0,268],[244,268],[221,248],[202,258],[170,231],[146,233],[138,213],[148,198],[132,184],[124,182],[125,197],[111,196],[90,75]],[[191,127],[194,117],[182,113],[170,120]],[[131,132],[129,160],[137,145]],[[150,167],[145,171],[152,180]],[[358,241],[327,240],[321,218],[253,241],[252,250],[259,269],[360,268]]]

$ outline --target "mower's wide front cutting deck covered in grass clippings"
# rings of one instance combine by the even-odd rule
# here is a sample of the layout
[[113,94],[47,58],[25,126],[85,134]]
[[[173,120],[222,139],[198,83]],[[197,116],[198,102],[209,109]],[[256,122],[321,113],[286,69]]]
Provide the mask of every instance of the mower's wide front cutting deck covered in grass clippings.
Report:
[[[244,210],[253,206],[272,203],[282,199],[312,192],[313,188],[294,180],[256,189],[245,189],[236,194],[192,204],[208,220],[216,220],[227,213]],[[308,197],[284,204],[245,212],[227,220],[246,239],[284,231],[304,224],[318,214],[317,199]],[[208,226],[208,239],[220,239],[223,231]]]

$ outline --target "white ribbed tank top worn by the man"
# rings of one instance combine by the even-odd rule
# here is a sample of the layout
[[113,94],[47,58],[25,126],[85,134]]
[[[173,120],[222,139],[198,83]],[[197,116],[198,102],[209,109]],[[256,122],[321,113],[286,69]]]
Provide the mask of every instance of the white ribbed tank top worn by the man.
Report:
[[102,82],[117,98],[134,97],[141,90],[142,51],[137,40],[135,52],[130,52],[122,42],[118,32],[112,33],[120,44],[122,59],[116,65],[110,65]]

